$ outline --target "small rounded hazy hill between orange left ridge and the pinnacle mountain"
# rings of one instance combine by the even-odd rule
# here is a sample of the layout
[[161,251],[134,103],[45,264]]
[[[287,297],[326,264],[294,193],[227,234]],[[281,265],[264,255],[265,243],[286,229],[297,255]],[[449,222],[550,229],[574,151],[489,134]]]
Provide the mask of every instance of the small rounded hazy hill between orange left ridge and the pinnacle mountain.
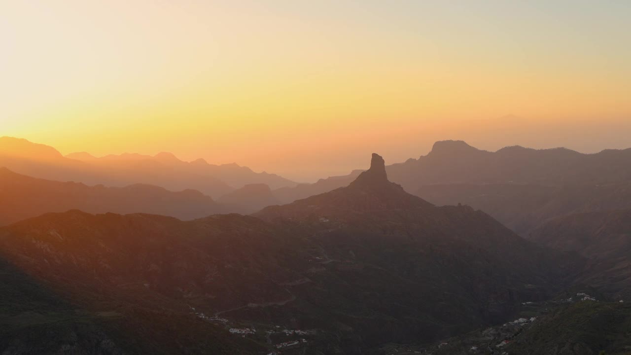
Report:
[[251,214],[263,207],[278,205],[278,200],[266,184],[247,184],[221,196],[219,203],[232,212]]

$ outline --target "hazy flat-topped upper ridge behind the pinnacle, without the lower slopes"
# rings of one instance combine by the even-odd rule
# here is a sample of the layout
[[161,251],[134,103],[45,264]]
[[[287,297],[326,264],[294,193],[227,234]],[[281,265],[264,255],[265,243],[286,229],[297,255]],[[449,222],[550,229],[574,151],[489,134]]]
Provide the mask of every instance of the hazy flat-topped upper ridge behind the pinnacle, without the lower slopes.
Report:
[[[437,141],[418,159],[388,165],[386,171],[391,181],[411,193],[435,184],[593,186],[631,181],[631,148],[583,154],[567,148],[514,146],[488,152],[464,141],[447,140]],[[275,190],[274,195],[281,203],[290,203],[346,186],[359,173]]]

